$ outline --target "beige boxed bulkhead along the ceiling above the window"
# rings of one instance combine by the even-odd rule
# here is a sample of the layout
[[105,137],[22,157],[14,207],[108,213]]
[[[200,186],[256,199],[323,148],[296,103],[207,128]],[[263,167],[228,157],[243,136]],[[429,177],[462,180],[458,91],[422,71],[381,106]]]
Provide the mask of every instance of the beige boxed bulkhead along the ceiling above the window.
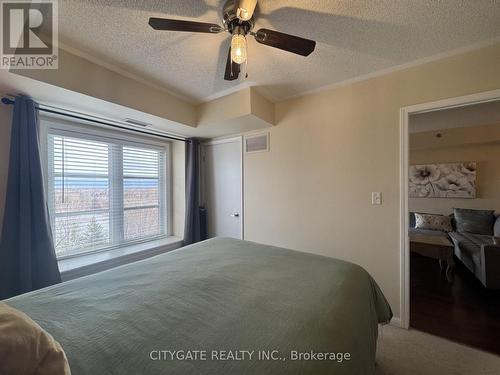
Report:
[[0,71],[0,91],[26,93],[41,103],[78,112],[137,119],[185,136],[211,138],[274,125],[274,103],[255,87],[194,104],[123,69],[67,49],[59,49],[56,70]]

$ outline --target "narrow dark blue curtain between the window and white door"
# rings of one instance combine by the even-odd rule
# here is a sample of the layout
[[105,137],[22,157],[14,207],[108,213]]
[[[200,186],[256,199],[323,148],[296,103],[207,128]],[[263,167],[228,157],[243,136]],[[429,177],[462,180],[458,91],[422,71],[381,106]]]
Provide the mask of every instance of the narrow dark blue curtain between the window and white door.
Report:
[[200,141],[191,138],[186,142],[186,223],[184,226],[184,245],[204,239],[200,217]]

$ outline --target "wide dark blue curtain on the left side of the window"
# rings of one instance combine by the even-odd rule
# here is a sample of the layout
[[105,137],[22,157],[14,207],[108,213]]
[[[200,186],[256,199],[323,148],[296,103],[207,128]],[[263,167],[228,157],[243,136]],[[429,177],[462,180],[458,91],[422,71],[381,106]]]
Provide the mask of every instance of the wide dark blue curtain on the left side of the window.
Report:
[[43,187],[38,126],[36,103],[18,96],[0,240],[0,299],[61,282]]

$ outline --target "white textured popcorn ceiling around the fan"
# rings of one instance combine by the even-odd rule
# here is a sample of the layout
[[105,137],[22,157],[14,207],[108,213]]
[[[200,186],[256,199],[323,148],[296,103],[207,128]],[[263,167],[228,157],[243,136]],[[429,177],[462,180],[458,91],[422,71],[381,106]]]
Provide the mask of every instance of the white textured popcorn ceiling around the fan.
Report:
[[229,34],[154,31],[148,18],[220,23],[219,0],[60,0],[63,44],[193,101],[257,85],[281,100],[500,36],[500,0],[259,0],[256,29],[314,39],[309,57],[249,41],[247,79],[223,80]]

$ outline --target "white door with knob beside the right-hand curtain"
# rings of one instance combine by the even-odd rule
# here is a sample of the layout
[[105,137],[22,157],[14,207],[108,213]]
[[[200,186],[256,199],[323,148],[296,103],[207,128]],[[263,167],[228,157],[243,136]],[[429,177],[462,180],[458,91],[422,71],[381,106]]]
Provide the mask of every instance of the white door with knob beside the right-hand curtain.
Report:
[[243,239],[242,138],[203,145],[208,237]]

